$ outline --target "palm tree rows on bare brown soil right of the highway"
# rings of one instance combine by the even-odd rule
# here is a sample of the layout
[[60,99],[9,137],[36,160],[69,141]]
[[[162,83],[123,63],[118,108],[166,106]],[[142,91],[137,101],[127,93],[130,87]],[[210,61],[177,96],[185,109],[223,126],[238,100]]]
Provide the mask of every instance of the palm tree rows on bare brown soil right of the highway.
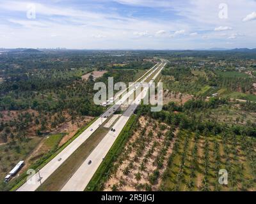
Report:
[[[152,128],[147,131],[148,127]],[[168,129],[168,131],[165,131],[166,129]],[[122,154],[118,157],[117,162],[113,165],[112,171],[113,175],[116,177],[116,173],[121,168],[120,166],[124,164],[125,161],[129,161],[122,169],[122,179],[119,178],[118,183],[111,187],[113,191],[121,189],[121,187],[125,185],[124,180],[127,180],[127,177],[136,180],[137,183],[134,184],[134,187],[137,190],[145,189],[147,191],[152,190],[152,186],[157,184],[157,180],[160,178],[159,170],[163,168],[170,141],[174,136],[173,130],[164,124],[157,124],[155,120],[150,119],[147,120],[145,126],[142,126],[140,122],[138,122],[135,131],[134,134],[138,134],[138,136],[127,143],[127,147],[125,147]],[[156,150],[157,154],[153,156]],[[152,165],[156,166],[152,173],[147,169],[147,164],[151,161]],[[141,179],[145,177],[145,173],[148,183],[141,184]]]

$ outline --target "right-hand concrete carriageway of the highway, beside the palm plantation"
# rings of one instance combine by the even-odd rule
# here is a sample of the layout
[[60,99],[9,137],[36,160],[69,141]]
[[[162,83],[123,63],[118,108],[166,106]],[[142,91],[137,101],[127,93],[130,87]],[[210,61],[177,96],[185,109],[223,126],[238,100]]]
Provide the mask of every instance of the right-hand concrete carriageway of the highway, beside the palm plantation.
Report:
[[[161,64],[162,68],[156,73],[156,75],[150,80],[150,84],[156,79],[156,77],[161,73],[161,70],[164,68],[166,63]],[[156,69],[155,69],[156,70]],[[120,119],[114,124],[113,129],[116,131],[109,131],[106,136],[101,140],[101,142],[95,147],[93,152],[88,156],[86,161],[78,168],[76,173],[72,175],[70,180],[68,180],[67,184],[63,186],[61,191],[84,191],[90,180],[92,179],[94,173],[99,168],[102,159],[108,154],[109,149],[115,142],[117,136],[120,134],[125,124],[131,117],[132,113],[136,110],[137,106],[140,105],[141,99],[145,98],[148,92],[148,87],[145,87],[141,94],[137,96],[137,98],[132,101],[131,105],[127,108],[127,110],[123,113]],[[88,164],[88,161],[92,161],[91,164]]]

